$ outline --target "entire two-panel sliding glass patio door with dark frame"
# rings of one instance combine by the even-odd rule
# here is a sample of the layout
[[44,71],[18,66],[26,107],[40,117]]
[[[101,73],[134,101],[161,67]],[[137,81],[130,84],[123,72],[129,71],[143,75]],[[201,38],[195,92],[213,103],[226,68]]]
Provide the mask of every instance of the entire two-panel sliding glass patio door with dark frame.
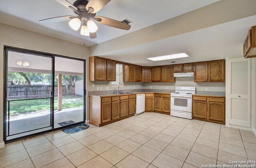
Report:
[[5,142],[84,123],[84,60],[4,51]]

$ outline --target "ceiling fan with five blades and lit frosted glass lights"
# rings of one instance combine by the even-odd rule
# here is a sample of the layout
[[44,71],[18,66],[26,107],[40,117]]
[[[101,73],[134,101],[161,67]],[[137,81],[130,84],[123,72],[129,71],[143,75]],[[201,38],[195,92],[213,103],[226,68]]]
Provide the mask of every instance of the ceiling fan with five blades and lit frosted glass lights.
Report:
[[55,0],[66,6],[67,8],[74,11],[77,16],[59,16],[54,18],[48,18],[39,20],[44,23],[56,23],[69,21],[69,26],[78,31],[81,27],[80,34],[83,36],[90,36],[90,38],[97,38],[96,31],[98,30],[97,25],[94,23],[100,23],[114,28],[123,30],[129,30],[130,25],[103,16],[96,16],[96,12],[101,10],[110,0],[76,0],[74,4],[71,4],[67,0]]

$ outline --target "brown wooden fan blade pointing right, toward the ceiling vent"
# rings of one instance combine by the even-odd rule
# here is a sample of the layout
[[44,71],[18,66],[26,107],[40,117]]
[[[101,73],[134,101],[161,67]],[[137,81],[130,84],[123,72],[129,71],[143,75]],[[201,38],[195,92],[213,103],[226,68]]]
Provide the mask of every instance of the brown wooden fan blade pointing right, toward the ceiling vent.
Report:
[[[100,18],[101,21],[99,20],[99,18]],[[113,19],[110,19],[110,18],[105,18],[105,17],[102,17],[102,16],[96,16],[95,21],[100,23],[100,24],[104,24],[104,25],[107,25],[107,26],[111,26],[111,27],[118,28],[118,29],[123,29],[123,30],[129,30],[131,28],[131,25],[128,25],[128,24],[125,24],[125,23],[122,23],[122,22],[119,22],[117,20],[113,20]]]

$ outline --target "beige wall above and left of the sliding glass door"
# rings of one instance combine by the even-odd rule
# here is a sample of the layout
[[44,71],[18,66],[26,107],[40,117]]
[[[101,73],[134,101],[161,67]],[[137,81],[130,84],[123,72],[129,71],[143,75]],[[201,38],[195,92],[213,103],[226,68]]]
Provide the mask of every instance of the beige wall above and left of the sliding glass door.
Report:
[[0,143],[3,140],[4,45],[82,59],[87,59],[89,56],[88,47],[0,23]]

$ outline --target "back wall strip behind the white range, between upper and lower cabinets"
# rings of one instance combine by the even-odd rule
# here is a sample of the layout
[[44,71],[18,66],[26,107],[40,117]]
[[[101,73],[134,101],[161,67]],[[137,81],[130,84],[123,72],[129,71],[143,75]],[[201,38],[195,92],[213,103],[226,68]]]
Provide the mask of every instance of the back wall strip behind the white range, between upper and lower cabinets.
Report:
[[194,78],[177,78],[175,83],[144,83],[145,89],[150,89],[150,86],[152,86],[152,89],[170,89],[175,90],[175,86],[194,86],[196,87],[196,91],[205,91],[205,88],[207,87],[208,91],[225,91],[225,83],[194,83]]

